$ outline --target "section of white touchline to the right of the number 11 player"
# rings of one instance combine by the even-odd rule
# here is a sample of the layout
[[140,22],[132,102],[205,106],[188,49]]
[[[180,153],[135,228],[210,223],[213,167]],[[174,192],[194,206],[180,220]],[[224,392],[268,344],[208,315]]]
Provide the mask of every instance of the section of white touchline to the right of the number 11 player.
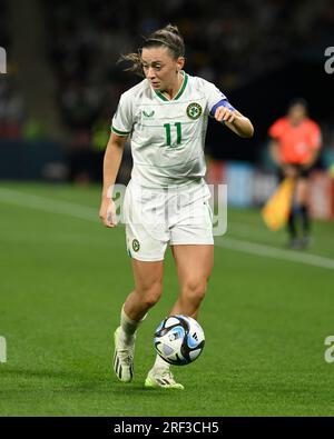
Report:
[[285,261],[293,261],[305,263],[307,266],[328,268],[334,270],[334,259],[325,258],[323,256],[302,253],[293,250],[281,250],[275,247],[265,246],[233,238],[220,238],[215,240],[215,245],[220,248],[242,251],[244,253],[262,256],[265,258],[281,259]]

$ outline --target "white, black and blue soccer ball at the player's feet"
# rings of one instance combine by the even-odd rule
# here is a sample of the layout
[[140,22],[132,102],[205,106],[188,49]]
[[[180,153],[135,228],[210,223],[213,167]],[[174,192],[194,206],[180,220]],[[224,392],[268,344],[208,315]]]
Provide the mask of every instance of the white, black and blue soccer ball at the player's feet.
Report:
[[202,327],[191,317],[169,316],[156,329],[154,343],[165,361],[184,366],[199,357],[205,337]]

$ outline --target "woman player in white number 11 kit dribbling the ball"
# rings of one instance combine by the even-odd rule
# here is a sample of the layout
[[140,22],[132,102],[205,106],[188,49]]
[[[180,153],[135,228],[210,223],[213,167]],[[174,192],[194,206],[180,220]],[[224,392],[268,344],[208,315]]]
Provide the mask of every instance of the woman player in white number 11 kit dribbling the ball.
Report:
[[[209,191],[204,181],[207,118],[214,117],[240,137],[252,137],[254,130],[213,83],[183,70],[185,44],[176,27],[155,31],[138,53],[124,59],[145,79],[120,97],[112,118],[99,216],[105,226],[116,226],[111,190],[130,136],[134,168],[124,211],[135,289],[121,309],[114,357],[118,379],[129,382],[136,330],[161,296],[168,242],[179,282],[170,315],[196,318],[206,292],[214,260]],[[158,356],[145,386],[184,389]]]

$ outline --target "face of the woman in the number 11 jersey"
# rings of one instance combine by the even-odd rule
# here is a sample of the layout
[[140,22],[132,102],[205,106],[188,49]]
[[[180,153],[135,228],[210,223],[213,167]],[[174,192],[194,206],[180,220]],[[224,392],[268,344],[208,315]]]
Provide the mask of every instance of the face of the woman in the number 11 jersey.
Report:
[[155,90],[165,91],[177,81],[178,71],[184,67],[184,58],[173,58],[166,47],[145,48],[141,52],[141,63],[145,77]]

